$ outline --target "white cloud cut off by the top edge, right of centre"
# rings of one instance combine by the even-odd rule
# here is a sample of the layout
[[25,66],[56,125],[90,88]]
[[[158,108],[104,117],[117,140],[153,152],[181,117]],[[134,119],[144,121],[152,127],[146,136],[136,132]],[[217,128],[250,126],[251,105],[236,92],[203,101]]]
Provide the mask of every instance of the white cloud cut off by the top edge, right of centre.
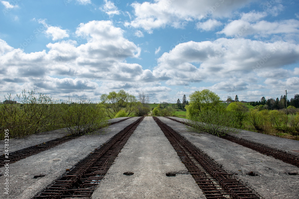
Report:
[[[252,0],[253,1],[253,0]],[[156,0],[155,3],[132,3],[136,18],[126,22],[126,26],[143,28],[152,33],[152,29],[170,25],[174,28],[182,28],[189,21],[201,20],[208,16],[229,17],[231,13],[249,4],[251,0],[187,0],[169,1]]]

